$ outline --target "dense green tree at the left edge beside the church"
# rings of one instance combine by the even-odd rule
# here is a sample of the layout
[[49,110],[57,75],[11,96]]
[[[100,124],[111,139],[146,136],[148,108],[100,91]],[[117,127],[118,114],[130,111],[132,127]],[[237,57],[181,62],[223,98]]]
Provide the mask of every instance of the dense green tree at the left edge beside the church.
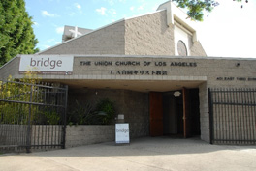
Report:
[[38,40],[24,0],[0,1],[0,66],[17,54],[33,54]]

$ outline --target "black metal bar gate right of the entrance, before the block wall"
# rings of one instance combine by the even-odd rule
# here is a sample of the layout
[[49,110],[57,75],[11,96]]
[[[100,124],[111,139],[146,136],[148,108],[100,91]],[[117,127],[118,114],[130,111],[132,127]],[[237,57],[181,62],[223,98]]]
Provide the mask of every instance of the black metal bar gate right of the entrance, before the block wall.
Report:
[[256,89],[208,89],[210,143],[256,144]]

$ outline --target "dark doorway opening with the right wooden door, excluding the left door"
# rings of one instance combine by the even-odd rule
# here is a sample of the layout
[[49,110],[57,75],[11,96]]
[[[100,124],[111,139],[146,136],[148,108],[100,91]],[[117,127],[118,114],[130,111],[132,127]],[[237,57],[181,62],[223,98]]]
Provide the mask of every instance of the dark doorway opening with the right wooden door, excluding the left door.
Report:
[[199,89],[163,93],[163,134],[200,135]]

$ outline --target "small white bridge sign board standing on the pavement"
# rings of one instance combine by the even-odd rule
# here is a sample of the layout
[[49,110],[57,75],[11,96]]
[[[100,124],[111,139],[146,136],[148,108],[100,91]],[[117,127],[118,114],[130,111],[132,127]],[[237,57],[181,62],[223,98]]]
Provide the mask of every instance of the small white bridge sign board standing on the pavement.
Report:
[[115,143],[130,143],[129,124],[115,124]]

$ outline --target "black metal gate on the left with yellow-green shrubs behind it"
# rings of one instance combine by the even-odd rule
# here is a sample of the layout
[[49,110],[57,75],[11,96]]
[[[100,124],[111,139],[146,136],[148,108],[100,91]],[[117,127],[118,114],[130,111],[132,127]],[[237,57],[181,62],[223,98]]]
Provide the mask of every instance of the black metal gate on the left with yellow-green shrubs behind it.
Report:
[[65,148],[68,87],[0,83],[0,152]]

